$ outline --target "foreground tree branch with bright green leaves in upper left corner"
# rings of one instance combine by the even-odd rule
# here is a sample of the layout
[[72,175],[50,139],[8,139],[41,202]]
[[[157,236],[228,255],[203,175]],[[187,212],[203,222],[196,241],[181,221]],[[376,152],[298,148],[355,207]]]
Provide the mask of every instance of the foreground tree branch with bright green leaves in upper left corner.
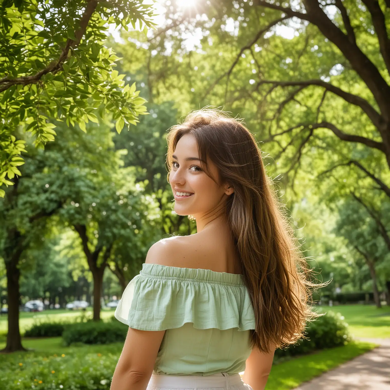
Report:
[[[3,0],[0,4],[0,185],[12,185],[24,163],[21,127],[35,136],[34,145],[53,141],[55,124],[78,123],[85,130],[93,113],[113,114],[116,129],[136,124],[146,111],[122,75],[113,70],[115,56],[104,46],[106,24],[126,30],[139,22],[152,27],[153,10],[140,0]],[[0,196],[4,190],[0,189]]]

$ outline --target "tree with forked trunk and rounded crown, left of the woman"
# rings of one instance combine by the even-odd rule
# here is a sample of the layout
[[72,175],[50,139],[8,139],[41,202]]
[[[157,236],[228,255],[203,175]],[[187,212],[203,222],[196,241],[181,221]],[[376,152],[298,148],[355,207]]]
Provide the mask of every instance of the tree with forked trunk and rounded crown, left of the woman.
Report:
[[[118,252],[127,252],[128,259],[146,255],[145,248],[156,241],[158,203],[144,195],[144,184],[135,183],[135,169],[122,167],[127,151],[113,149],[114,133],[106,123],[90,125],[99,132],[99,169],[77,165],[80,181],[73,188],[58,215],[79,236],[83,254],[94,280],[94,315],[100,319],[103,276],[109,261],[115,262]],[[150,220],[150,223],[146,223]]]

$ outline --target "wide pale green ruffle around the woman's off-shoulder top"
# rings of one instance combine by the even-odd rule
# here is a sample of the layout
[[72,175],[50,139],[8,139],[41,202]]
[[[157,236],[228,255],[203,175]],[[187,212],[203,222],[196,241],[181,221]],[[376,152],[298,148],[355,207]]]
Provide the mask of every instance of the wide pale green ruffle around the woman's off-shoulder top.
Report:
[[196,329],[255,329],[243,275],[161,264],[142,264],[114,316],[139,330],[174,329],[188,322]]

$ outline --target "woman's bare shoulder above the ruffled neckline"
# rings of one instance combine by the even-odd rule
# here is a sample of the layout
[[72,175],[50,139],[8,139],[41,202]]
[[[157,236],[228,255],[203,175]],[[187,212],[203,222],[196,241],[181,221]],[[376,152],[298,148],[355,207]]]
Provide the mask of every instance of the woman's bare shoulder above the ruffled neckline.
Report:
[[145,263],[195,268],[193,260],[199,253],[200,245],[197,238],[172,236],[154,243],[147,252]]

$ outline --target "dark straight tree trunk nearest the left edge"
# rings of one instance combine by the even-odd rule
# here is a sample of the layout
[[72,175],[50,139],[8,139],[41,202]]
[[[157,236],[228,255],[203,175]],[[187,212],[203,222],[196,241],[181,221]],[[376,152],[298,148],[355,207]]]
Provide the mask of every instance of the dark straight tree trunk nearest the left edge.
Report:
[[12,259],[5,261],[7,271],[7,293],[8,293],[8,333],[7,344],[0,353],[15,351],[27,351],[22,346],[19,328],[19,278],[20,270],[17,267],[18,261]]

